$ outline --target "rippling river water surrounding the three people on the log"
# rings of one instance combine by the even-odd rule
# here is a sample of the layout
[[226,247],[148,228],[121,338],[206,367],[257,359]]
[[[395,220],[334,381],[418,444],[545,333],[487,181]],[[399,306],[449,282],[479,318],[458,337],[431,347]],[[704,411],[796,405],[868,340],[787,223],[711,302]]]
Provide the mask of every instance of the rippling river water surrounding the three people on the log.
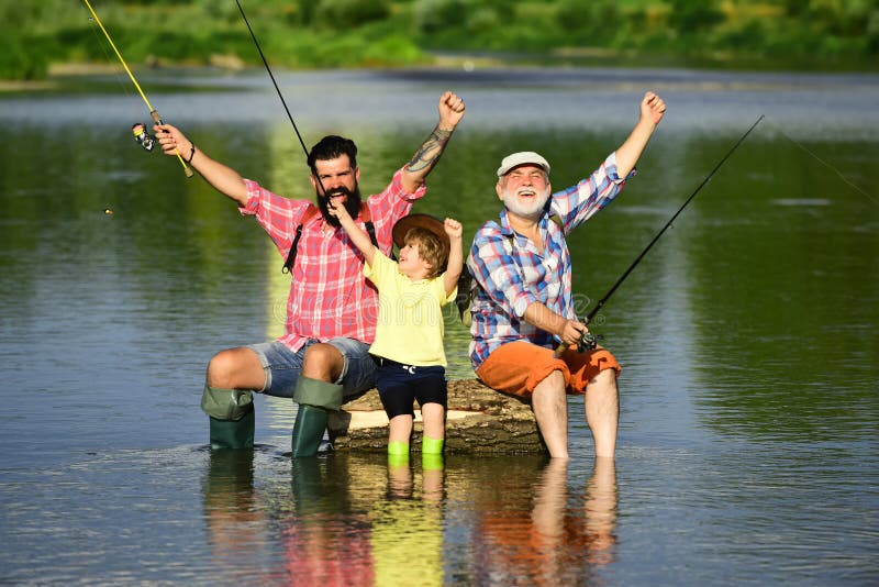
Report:
[[[265,74],[138,76],[199,148],[309,195]],[[281,259],[203,180],[135,145],[148,114],[121,76],[0,97],[0,582],[879,582],[879,77],[278,79],[308,144],[358,143],[365,192],[459,92],[466,119],[415,211],[458,218],[466,239],[498,212],[502,156],[539,151],[566,187],[659,91],[668,113],[638,177],[569,240],[583,312],[765,118],[594,322],[624,369],[616,459],[593,459],[572,399],[570,462],[447,455],[436,470],[291,461],[293,406],[262,396],[257,450],[211,453],[204,366],[278,334]],[[449,315],[450,377],[472,376],[466,344]]]

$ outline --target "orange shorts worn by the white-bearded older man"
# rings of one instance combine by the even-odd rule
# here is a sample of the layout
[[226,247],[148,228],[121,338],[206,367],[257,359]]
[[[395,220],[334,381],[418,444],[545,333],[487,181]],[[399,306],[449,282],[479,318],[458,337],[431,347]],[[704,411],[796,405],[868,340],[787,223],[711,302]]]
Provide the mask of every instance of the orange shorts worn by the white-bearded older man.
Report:
[[556,358],[552,348],[516,341],[492,352],[476,369],[476,376],[492,389],[531,398],[537,384],[554,370],[561,372],[568,394],[582,395],[589,381],[604,369],[614,369],[619,376],[622,367],[610,351],[601,346],[588,353],[568,348]]

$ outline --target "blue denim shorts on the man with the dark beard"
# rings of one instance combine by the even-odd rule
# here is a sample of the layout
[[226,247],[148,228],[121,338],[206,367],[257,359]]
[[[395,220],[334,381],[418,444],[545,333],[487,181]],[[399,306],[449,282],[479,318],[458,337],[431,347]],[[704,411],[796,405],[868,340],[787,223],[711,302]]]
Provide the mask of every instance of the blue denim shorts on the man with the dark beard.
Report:
[[[260,392],[279,398],[292,398],[296,383],[302,372],[305,350],[319,343],[320,341],[311,339],[297,352],[290,351],[277,341],[247,345],[246,348],[259,357],[266,372],[266,387]],[[354,339],[332,339],[326,341],[326,344],[335,346],[344,357],[342,375],[335,381],[342,384],[343,395],[353,396],[375,387],[376,364],[369,355],[368,344]]]

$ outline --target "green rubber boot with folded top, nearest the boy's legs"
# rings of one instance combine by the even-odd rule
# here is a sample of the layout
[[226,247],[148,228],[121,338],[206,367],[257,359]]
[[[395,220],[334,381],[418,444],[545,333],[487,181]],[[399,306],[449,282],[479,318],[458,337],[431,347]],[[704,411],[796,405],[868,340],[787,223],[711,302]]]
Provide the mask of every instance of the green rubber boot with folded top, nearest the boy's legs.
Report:
[[291,455],[314,456],[321,446],[330,411],[342,406],[342,386],[300,376],[293,401],[299,403],[299,411],[293,423]]

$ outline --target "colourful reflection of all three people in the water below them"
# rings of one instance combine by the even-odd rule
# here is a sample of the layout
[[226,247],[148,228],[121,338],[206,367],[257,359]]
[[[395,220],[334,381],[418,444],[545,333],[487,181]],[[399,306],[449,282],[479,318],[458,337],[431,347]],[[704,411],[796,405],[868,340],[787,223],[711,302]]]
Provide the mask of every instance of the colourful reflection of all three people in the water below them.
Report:
[[598,458],[577,487],[568,467],[534,456],[389,466],[382,455],[336,454],[293,461],[289,485],[257,486],[253,451],[214,451],[202,484],[210,574],[301,585],[580,584],[615,560],[616,470]]

